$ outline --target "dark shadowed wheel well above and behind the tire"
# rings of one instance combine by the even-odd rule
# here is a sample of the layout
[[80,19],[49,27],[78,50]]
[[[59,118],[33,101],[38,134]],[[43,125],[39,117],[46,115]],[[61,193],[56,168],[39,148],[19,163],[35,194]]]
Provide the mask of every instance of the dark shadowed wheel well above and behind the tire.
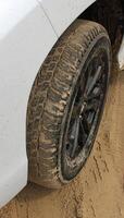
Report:
[[123,35],[124,29],[124,1],[123,0],[98,0],[92,3],[79,19],[87,19],[100,23],[109,33],[112,45],[119,33]]

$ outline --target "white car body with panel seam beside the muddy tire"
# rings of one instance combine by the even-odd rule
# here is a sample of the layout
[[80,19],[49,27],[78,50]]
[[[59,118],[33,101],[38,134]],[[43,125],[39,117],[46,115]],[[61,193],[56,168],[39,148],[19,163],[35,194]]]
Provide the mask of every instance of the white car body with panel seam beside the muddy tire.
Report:
[[[62,33],[94,2],[0,2],[0,207],[27,183],[26,111],[38,70]],[[121,47],[122,65],[123,56]]]

